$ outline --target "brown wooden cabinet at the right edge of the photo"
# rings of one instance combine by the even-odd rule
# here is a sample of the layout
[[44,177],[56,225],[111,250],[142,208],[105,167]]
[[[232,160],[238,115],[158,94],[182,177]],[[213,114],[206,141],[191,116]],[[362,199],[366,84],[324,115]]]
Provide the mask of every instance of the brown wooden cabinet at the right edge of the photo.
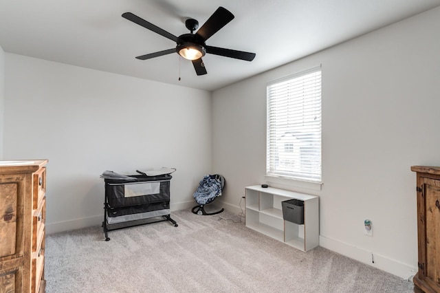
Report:
[[423,292],[440,292],[440,167],[411,166],[417,172],[419,271],[413,281]]

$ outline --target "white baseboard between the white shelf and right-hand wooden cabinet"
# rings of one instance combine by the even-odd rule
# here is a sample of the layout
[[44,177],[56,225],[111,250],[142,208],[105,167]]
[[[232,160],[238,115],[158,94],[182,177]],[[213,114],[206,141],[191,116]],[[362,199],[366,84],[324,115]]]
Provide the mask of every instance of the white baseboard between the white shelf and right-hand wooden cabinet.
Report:
[[366,263],[367,265],[384,270],[385,272],[389,272],[390,274],[394,274],[395,276],[399,276],[400,278],[408,281],[412,281],[412,276],[414,276],[417,272],[416,267],[412,267],[406,263],[401,263],[394,259],[384,257],[383,255],[363,250],[361,248],[357,248],[347,243],[342,243],[321,235],[319,237],[319,245],[323,248],[338,252],[346,257],[355,259],[361,263]]

